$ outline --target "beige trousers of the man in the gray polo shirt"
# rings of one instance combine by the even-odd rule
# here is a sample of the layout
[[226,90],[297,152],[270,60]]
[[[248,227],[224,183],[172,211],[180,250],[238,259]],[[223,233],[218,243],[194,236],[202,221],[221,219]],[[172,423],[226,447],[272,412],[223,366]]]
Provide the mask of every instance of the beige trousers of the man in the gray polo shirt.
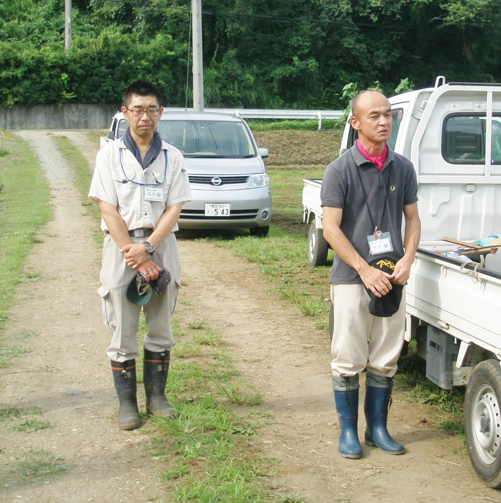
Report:
[[405,287],[398,311],[387,318],[369,312],[370,297],[364,285],[331,284],[334,333],[331,343],[332,374],[352,377],[367,369],[392,377],[404,344]]

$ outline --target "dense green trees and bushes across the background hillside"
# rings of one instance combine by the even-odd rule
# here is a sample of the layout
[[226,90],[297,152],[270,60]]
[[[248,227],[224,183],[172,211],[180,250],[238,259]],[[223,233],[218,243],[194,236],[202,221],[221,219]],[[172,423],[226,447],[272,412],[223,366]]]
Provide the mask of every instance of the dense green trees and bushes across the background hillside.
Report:
[[[501,81],[499,0],[203,0],[206,106],[344,108],[343,87],[388,94]],[[190,0],[0,0],[0,106],[117,104],[144,77],[191,104]]]

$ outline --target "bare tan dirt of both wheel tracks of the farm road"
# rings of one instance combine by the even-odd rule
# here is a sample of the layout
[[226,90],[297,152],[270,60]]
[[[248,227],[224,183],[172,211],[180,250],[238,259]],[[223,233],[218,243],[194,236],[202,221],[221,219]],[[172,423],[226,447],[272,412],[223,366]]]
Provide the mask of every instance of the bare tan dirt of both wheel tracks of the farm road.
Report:
[[[1,341],[4,349],[29,352],[0,368],[0,408],[39,407],[52,428],[24,433],[0,422],[0,501],[169,501],[157,478],[158,460],[144,448],[144,430],[115,426],[117,399],[105,355],[109,332],[95,292],[101,251],[51,136],[67,136],[90,164],[97,145],[71,131],[18,134],[47,172],[55,219],[40,230],[41,243],[26,265],[35,279],[17,288]],[[459,440],[433,429],[433,414],[398,393],[389,428],[406,454],[363,446],[362,459],[341,458],[325,334],[268,293],[262,274],[231,251],[186,238],[179,245],[180,298],[189,306],[178,302],[176,318],[204,319],[223,330],[242,377],[265,393],[260,407],[276,424],[256,442],[282,463],[277,487],[288,486],[308,503],[501,501],[500,492],[476,477]],[[362,417],[360,435],[364,427]],[[66,470],[58,477],[20,479],[18,462],[40,452]]]

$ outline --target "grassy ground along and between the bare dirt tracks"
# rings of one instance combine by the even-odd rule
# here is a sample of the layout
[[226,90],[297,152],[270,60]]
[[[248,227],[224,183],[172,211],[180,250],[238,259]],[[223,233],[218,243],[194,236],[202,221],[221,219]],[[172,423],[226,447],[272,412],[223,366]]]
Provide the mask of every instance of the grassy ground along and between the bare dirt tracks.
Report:
[[[274,210],[269,236],[250,236],[245,229],[207,232],[204,238],[257,264],[266,275],[269,288],[281,299],[297,305],[305,316],[312,317],[327,339],[330,268],[312,268],[308,264],[301,194],[303,178],[322,178],[326,165],[337,156],[341,131],[269,130],[252,123],[251,128],[258,145],[270,152],[265,161]],[[99,133],[102,132],[89,135],[98,141]],[[51,217],[48,187],[27,145],[12,135],[2,141],[2,147],[0,267],[4,274],[0,276],[0,333],[14,285],[30,280],[24,263],[35,242],[34,233]],[[88,204],[84,196],[90,172],[85,159],[65,138],[58,140],[58,148],[75,170],[82,204]],[[19,180],[20,174],[27,183],[17,187],[15,180]],[[25,211],[27,191],[33,208],[30,212]],[[91,211],[97,229],[98,215],[94,208]],[[96,231],[95,238],[101,239],[101,233]],[[142,322],[139,338],[145,329]],[[169,381],[175,386],[171,392],[176,397],[179,419],[158,421],[152,433],[156,455],[162,462],[161,476],[170,485],[172,501],[300,503],[301,499],[287,494],[270,494],[261,483],[273,477],[279,467],[256,451],[252,437],[263,423],[272,422],[273,418],[259,413],[238,414],[218,400],[219,396],[225,396],[233,404],[250,405],[262,398],[240,381],[229,353],[221,344],[221,334],[202,322],[179,326],[175,317],[173,331],[179,344],[174,350],[177,363]],[[201,353],[211,358],[204,363],[190,359]],[[423,376],[422,363],[411,352],[403,362],[404,372],[398,378],[398,386],[405,388],[410,400],[429,403],[443,411],[443,421],[438,427],[461,434],[461,391],[445,392],[431,384]],[[242,452],[246,455],[242,456]],[[198,472],[202,469],[204,477],[195,477],[193,467]]]

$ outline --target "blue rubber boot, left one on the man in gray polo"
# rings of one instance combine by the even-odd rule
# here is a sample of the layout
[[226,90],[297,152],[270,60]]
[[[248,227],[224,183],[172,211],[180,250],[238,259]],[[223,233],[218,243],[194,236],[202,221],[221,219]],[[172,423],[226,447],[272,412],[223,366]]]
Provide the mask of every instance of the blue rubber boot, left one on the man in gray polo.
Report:
[[[358,378],[358,376],[357,376]],[[351,389],[350,378],[345,379],[345,390],[340,391],[334,386],[334,401],[339,417],[339,454],[344,458],[358,459],[362,456],[362,446],[358,440],[358,387]],[[334,378],[333,378],[334,382]],[[357,379],[358,384],[358,379]]]

